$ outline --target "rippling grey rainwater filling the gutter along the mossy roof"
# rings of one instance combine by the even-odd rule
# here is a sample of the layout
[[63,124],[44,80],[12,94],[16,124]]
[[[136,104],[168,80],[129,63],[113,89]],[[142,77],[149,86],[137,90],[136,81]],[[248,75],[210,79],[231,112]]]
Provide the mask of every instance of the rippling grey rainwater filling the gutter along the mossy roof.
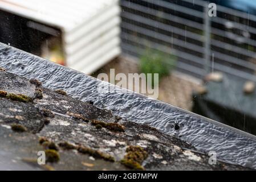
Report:
[[[79,100],[93,101],[94,105],[129,121],[157,127],[200,151],[216,151],[218,159],[256,168],[256,138],[250,134],[117,87],[115,93],[99,93],[100,80],[3,44],[0,67],[27,78],[38,78],[46,88],[63,89]],[[178,131],[173,127],[175,121],[181,126]]]

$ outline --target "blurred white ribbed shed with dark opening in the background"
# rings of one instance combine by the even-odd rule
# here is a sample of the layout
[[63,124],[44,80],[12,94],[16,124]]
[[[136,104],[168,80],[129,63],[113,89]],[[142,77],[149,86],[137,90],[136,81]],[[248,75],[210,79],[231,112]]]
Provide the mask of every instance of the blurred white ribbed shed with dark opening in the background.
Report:
[[0,42],[90,74],[120,54],[117,0],[1,0]]

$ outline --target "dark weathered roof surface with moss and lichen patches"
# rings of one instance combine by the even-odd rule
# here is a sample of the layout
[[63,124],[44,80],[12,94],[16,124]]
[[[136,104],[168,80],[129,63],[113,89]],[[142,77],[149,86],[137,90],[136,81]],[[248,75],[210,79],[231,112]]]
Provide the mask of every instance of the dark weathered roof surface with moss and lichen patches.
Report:
[[[0,169],[247,169],[219,161],[210,165],[208,155],[181,139],[34,79],[2,70],[0,90]],[[57,159],[47,155],[52,150]],[[46,152],[47,165],[37,164],[38,151]]]

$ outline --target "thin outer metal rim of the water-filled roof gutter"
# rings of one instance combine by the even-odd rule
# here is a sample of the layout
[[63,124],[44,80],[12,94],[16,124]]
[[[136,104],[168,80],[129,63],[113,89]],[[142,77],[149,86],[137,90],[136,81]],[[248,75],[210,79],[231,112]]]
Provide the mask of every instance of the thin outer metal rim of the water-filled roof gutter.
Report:
[[[13,49],[13,50],[15,50],[15,51],[19,51],[19,52],[22,52],[22,53],[29,54],[31,57],[34,57],[35,59],[39,59],[39,60],[42,60],[42,61],[47,61],[48,63],[51,63],[51,64],[55,64],[55,63],[53,63],[53,62],[50,61],[50,60],[43,59],[42,57],[39,57],[39,56],[36,56],[36,55],[32,55],[31,53],[28,53],[28,52],[26,52],[26,51],[22,51],[21,49],[18,49],[18,48],[12,47],[12,46],[8,46],[7,44],[3,44],[3,43],[0,42],[0,47],[1,47],[1,46],[6,47],[6,48],[8,48],[8,49]],[[1,49],[0,49],[0,50],[1,50]],[[1,52],[0,52],[0,53],[1,53]],[[1,61],[1,60],[0,60],[0,61]],[[56,65],[56,64],[55,64],[55,65]],[[78,72],[78,73],[80,73],[80,74],[83,74],[83,75],[85,75],[85,76],[90,77],[92,80],[98,80],[98,81],[99,81],[99,79],[97,79],[97,78],[95,78],[95,77],[92,77],[92,76],[90,76],[90,75],[86,75],[85,73],[76,71],[76,70],[71,69],[71,68],[68,68],[68,67],[64,67],[63,65],[59,65],[59,64],[58,64],[58,67],[62,67],[62,68],[64,68],[64,69],[69,69],[69,70],[72,70],[72,71],[74,71],[74,72]],[[10,70],[9,70],[9,72],[15,73],[15,74],[19,75],[18,73],[12,72],[12,71],[10,71]],[[22,76],[24,76],[24,75],[22,75]],[[24,76],[24,77],[26,77],[26,76]],[[26,78],[28,78],[28,77],[26,77]],[[110,84],[110,83],[108,83],[108,84],[109,84],[109,85],[113,85],[113,84]],[[116,86],[116,85],[115,85],[115,86]],[[119,86],[116,86],[116,87],[117,87],[117,88],[120,88]],[[51,89],[51,88],[49,88],[49,89]],[[124,88],[122,88],[122,89],[124,89]],[[141,96],[141,98],[143,98],[143,97],[144,97],[144,98],[149,98],[149,97],[147,97],[147,96],[144,96],[143,94],[133,92],[132,90],[129,90],[128,92],[130,92],[130,93],[132,93],[132,94],[139,95],[139,96]],[[252,134],[250,134],[250,133],[246,133],[245,131],[242,131],[242,130],[239,130],[239,129],[235,129],[234,127],[231,127],[231,126],[229,126],[229,125],[225,125],[224,123],[221,123],[221,122],[218,122],[218,121],[214,121],[213,119],[203,117],[202,115],[198,115],[198,114],[196,114],[196,113],[192,113],[191,111],[188,111],[188,110],[185,110],[185,109],[181,109],[180,107],[177,107],[177,106],[168,104],[168,103],[166,103],[166,102],[159,101],[159,100],[156,100],[156,99],[153,99],[153,98],[150,98],[150,99],[151,99],[152,101],[162,102],[162,103],[164,103],[165,105],[169,105],[170,107],[173,107],[173,109],[177,109],[178,111],[181,111],[181,112],[183,112],[183,113],[192,115],[193,117],[200,118],[201,120],[204,120],[204,121],[206,121],[206,122],[212,123],[213,125],[217,125],[217,126],[224,127],[224,128],[226,128],[226,129],[232,130],[232,131],[234,131],[234,132],[237,133],[237,134],[243,135],[244,137],[247,137],[247,138],[256,140],[256,136],[255,136],[255,135],[252,135]]]

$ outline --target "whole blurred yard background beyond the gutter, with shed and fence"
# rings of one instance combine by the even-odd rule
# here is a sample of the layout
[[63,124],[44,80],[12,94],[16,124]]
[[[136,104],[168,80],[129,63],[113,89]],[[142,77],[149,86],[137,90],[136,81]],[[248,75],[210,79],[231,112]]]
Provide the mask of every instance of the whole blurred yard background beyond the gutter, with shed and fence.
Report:
[[0,0],[0,23],[2,43],[94,77],[159,73],[159,100],[256,134],[254,0]]

